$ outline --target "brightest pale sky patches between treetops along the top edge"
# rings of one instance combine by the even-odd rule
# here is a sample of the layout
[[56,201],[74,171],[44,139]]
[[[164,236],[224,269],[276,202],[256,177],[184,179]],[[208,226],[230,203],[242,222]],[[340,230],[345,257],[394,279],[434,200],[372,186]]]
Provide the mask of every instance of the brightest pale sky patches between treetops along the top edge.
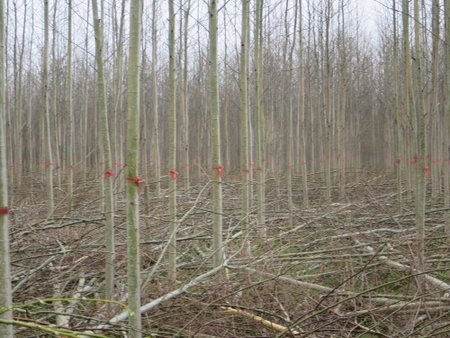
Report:
[[[270,2],[270,0],[266,0],[267,2]],[[278,4],[278,9],[274,9],[272,7],[272,10],[275,11],[284,11],[284,6],[286,0],[273,0],[274,3]],[[322,1],[322,0],[315,0],[315,1]],[[383,17],[385,17],[387,13],[387,9],[385,6],[382,5],[382,3],[386,3],[387,0],[348,0],[348,10],[352,12],[350,14],[351,17],[358,17],[358,21],[360,23],[360,27],[362,31],[367,33],[367,36],[371,38],[373,43],[377,43],[378,38],[378,23],[380,20],[382,20]],[[111,0],[105,1],[107,5],[111,4]],[[178,0],[176,1],[177,3]],[[222,3],[226,3],[226,13],[227,18],[225,20],[221,19],[221,28],[222,31],[226,29],[228,34],[228,42],[231,43],[230,49],[234,48],[234,46],[237,44],[237,40],[233,40],[233,35],[238,38],[239,31],[240,31],[240,0],[233,0],[233,1],[225,1],[221,0]],[[293,2],[293,1],[291,1]],[[13,3],[17,4],[17,8],[19,11],[19,20],[21,17],[21,14],[24,11],[25,3],[28,4],[27,9],[27,23],[26,23],[26,29],[28,31],[28,34],[31,34],[33,31],[33,37],[29,36],[29,40],[33,40],[34,42],[34,48],[40,48],[42,44],[42,32],[43,32],[43,18],[42,18],[42,0],[15,0],[15,1],[9,1],[9,24],[8,24],[8,31],[10,34],[10,40],[13,40]],[[51,1],[51,4],[54,2]],[[67,16],[67,10],[66,10],[66,1],[59,0],[58,2],[58,22],[57,22],[57,33],[58,33],[58,39],[60,39],[60,45],[64,46],[65,39],[66,39],[66,16]],[[92,22],[92,14],[90,11],[87,11],[87,0],[74,0],[73,3],[73,10],[74,10],[74,42],[76,44],[75,52],[78,52],[78,49],[80,51],[83,51],[84,49],[84,37],[85,37],[85,31],[86,31],[86,21],[89,20],[89,23]],[[120,3],[120,1],[118,1]],[[146,14],[147,15],[147,23],[149,22],[150,12],[151,12],[151,1],[144,0],[145,7],[146,7]],[[192,34],[192,39],[195,39],[196,43],[201,43],[203,47],[206,47],[207,45],[207,39],[205,32],[207,30],[207,20],[208,16],[206,13],[206,0],[192,0],[192,12],[191,12],[191,19],[190,19],[190,31]],[[167,30],[167,18],[166,18],[166,5],[167,0],[160,0],[159,4],[161,5],[159,20],[160,20],[160,51],[166,52],[166,46],[165,46],[165,37],[166,37],[166,30]],[[126,12],[128,11],[128,2],[126,4]],[[51,12],[53,11],[53,5],[51,6]],[[199,10],[197,10],[199,9]],[[357,11],[354,13],[354,11]],[[33,18],[31,17],[31,13],[33,14]],[[279,14],[279,13],[278,13]],[[110,12],[107,12],[107,15],[110,15]],[[53,13],[52,13],[53,17]],[[88,19],[89,18],[89,19]],[[105,27],[105,35],[107,37],[110,37],[111,35],[111,23],[108,22],[108,19],[106,19],[106,27]],[[198,40],[198,24],[202,27],[200,29],[201,34],[205,35],[205,39]],[[224,26],[225,25],[225,26]],[[31,29],[31,26],[33,26],[33,29]],[[126,27],[128,24],[126,24]],[[21,35],[21,23],[19,23],[18,27],[18,35]],[[90,29],[92,30],[92,28]],[[150,25],[146,25],[145,28],[145,34],[147,36],[147,39],[151,37],[150,32]],[[148,41],[147,41],[148,42]],[[93,39],[89,42],[88,49],[92,52],[93,51]],[[38,51],[38,49],[37,49]]]

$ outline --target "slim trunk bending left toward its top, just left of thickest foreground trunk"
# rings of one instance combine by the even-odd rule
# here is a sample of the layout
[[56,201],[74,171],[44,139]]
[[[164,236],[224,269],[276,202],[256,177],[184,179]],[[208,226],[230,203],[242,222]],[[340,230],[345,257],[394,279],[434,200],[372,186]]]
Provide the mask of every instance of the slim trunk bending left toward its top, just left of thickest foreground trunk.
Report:
[[113,172],[111,168],[111,143],[109,138],[108,111],[106,108],[106,88],[103,71],[103,28],[98,15],[97,0],[92,0],[92,14],[95,31],[95,59],[97,64],[98,110],[100,115],[100,148],[103,154],[104,173],[102,188],[105,217],[106,217],[106,257],[105,257],[105,298],[113,299],[114,296],[114,197],[113,197]]

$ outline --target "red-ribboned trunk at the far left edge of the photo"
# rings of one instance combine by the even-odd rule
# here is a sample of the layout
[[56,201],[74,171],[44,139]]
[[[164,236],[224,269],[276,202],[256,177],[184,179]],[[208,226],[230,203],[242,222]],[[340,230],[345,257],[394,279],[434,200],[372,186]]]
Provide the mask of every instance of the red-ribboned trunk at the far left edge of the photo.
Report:
[[[5,21],[4,1],[0,0],[0,319],[11,320],[12,311],[4,310],[12,305],[5,113]],[[12,325],[0,324],[0,337],[12,338]]]

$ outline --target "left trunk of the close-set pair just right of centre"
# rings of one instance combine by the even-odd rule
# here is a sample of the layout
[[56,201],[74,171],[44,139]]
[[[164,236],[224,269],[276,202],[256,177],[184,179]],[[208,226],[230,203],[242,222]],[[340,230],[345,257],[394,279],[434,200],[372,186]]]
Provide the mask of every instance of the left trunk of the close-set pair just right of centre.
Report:
[[239,89],[241,94],[241,203],[242,203],[242,231],[244,232],[245,243],[243,245],[243,256],[250,256],[250,243],[246,237],[249,230],[249,189],[250,171],[249,166],[249,131],[248,131],[248,7],[249,0],[242,0],[242,30],[241,30],[241,56],[239,69]]

